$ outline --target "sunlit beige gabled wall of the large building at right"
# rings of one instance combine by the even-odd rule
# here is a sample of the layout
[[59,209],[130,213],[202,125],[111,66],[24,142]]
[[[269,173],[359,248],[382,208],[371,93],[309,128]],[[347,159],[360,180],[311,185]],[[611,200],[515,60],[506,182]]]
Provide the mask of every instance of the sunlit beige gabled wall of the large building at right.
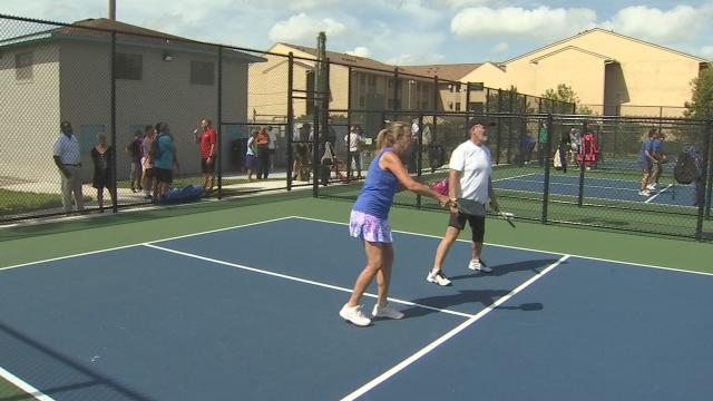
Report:
[[[621,66],[619,70],[607,70],[606,91],[605,86],[602,87],[602,91],[605,91],[604,98],[589,86],[572,80],[574,77],[572,72],[568,72],[588,68],[586,65],[593,62],[593,59],[585,52],[580,52],[578,63],[576,62],[576,52],[573,52],[572,59],[567,61],[568,65],[577,63],[579,66],[577,69],[563,68],[554,62],[547,66],[531,62],[534,59],[567,47],[577,47],[603,55]],[[623,107],[627,105],[682,107],[685,101],[691,99],[691,81],[699,76],[700,65],[703,61],[675,50],[606,30],[594,29],[506,61],[506,71],[512,85],[517,86],[520,92],[539,96],[544,91],[543,88],[547,89],[546,85],[540,84],[541,80],[559,81],[573,86],[573,89],[579,95],[582,104],[585,105],[607,102],[607,108],[611,108],[615,105],[608,102],[615,101]],[[570,76],[566,78],[570,80],[558,78],[563,74],[569,74]],[[596,77],[588,78],[598,80],[598,76],[597,69]]]

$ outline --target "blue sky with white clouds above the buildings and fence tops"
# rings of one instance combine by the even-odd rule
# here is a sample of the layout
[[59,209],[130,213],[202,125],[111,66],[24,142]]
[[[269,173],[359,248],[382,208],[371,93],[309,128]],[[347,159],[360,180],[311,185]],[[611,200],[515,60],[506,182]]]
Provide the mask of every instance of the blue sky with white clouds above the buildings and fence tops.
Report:
[[[2,0],[0,13],[62,22],[107,16],[107,0]],[[192,39],[275,41],[399,65],[500,61],[594,27],[713,59],[713,0],[117,0],[117,18]]]

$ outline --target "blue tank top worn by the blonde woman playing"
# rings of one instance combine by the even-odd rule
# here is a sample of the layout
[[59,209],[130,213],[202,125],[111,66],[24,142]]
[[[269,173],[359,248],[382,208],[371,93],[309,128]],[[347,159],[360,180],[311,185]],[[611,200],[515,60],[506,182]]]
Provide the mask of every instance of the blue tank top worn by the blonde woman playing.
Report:
[[393,195],[399,187],[399,178],[390,170],[379,167],[381,156],[389,150],[391,150],[390,147],[384,147],[369,165],[364,186],[361,188],[356,202],[354,202],[353,211],[383,219],[389,217]]

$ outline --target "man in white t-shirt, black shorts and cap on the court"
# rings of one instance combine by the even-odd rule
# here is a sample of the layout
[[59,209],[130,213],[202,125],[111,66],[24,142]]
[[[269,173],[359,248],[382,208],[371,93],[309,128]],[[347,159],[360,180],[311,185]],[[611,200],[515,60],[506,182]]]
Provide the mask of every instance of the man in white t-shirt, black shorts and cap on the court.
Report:
[[[495,124],[480,118],[468,121],[470,138],[460,144],[451,154],[448,172],[448,194],[451,199],[465,198],[485,204],[490,202],[490,207],[498,211],[498,199],[492,189],[492,158],[490,149],[486,146],[488,140],[488,127]],[[490,267],[480,262],[482,241],[486,229],[486,216],[466,215],[451,206],[450,219],[446,235],[436,250],[433,268],[429,272],[427,281],[438,285],[449,285],[451,282],[442,272],[443,261],[450,246],[458,238],[460,232],[470,224],[472,232],[472,255],[468,268],[476,272],[492,272]]]

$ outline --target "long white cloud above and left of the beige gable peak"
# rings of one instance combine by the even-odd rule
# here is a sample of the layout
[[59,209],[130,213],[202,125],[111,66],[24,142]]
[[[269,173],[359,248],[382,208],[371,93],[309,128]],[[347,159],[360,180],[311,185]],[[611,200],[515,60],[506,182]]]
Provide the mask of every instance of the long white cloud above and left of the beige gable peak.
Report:
[[586,8],[524,9],[505,7],[467,8],[451,20],[450,29],[457,37],[509,36],[553,39],[574,35],[594,27],[596,12]]

